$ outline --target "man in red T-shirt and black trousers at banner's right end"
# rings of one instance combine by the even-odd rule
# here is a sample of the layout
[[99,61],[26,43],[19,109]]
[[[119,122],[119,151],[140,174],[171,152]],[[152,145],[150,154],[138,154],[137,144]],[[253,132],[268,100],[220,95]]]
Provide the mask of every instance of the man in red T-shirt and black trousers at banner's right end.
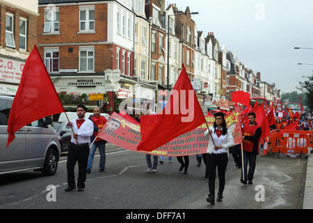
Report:
[[[243,174],[241,172],[241,183],[243,185],[252,184],[253,175],[255,174],[255,166],[257,155],[259,155],[259,142],[262,135],[262,128],[255,122],[255,113],[248,114],[249,123],[243,125]],[[249,171],[247,176],[247,168],[249,163]]]

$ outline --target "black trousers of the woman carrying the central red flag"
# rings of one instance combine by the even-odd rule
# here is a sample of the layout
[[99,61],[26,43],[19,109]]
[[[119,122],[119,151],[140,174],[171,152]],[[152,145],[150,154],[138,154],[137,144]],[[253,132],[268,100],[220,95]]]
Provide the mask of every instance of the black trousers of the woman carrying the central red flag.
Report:
[[223,195],[225,188],[225,173],[228,163],[227,153],[220,154],[207,154],[207,167],[209,175],[209,194],[215,197],[215,178],[216,178],[216,167],[218,168],[218,194]]

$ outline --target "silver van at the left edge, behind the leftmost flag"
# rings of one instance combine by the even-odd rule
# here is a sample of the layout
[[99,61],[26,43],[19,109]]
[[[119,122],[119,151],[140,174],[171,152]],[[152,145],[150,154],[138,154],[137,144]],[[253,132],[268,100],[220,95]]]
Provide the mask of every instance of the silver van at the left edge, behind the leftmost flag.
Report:
[[[6,148],[7,123],[13,96],[0,95],[0,174],[25,170],[56,174],[61,145],[50,117],[40,118],[15,132],[15,139]],[[22,115],[22,114],[21,114]]]

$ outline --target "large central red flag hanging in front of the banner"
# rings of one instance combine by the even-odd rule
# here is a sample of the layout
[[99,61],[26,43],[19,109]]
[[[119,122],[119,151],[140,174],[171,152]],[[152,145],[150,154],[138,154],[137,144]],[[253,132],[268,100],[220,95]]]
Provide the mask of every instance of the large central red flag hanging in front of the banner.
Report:
[[[188,114],[184,111],[187,105]],[[188,117],[189,113],[193,114],[192,120]],[[182,72],[170,94],[170,100],[163,109],[163,114],[141,116],[142,138],[137,150],[153,151],[179,135],[198,128],[202,123],[205,123],[202,109],[182,65]]]

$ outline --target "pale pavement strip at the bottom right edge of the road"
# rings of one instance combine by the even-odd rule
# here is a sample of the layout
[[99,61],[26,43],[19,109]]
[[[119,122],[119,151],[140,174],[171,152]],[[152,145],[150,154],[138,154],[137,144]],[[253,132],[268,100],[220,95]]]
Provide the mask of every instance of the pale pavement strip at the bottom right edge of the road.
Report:
[[310,154],[307,159],[307,179],[305,180],[303,209],[313,209],[313,154]]

